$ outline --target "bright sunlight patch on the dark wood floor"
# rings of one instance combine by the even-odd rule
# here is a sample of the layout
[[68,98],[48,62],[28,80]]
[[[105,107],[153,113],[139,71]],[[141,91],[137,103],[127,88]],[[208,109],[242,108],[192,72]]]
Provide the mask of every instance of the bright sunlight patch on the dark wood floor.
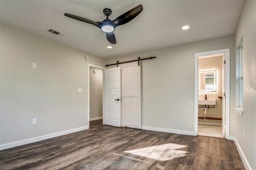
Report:
[[[127,150],[124,151],[126,153],[135,154],[138,156],[143,156],[145,158],[150,158],[153,160],[159,160],[159,161],[166,161],[171,160],[172,158],[177,158],[186,156],[188,152],[181,150],[181,148],[188,147],[186,145],[181,144],[161,144],[157,146],[150,146],[146,148],[140,148],[140,149],[134,149],[134,150]],[[172,155],[176,154],[175,157],[172,157]]]

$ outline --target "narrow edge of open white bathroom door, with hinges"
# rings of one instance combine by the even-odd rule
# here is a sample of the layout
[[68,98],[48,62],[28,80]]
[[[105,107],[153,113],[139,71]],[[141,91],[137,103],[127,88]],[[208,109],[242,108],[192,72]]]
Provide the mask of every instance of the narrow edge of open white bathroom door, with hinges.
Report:
[[222,135],[226,132],[226,54],[222,59]]

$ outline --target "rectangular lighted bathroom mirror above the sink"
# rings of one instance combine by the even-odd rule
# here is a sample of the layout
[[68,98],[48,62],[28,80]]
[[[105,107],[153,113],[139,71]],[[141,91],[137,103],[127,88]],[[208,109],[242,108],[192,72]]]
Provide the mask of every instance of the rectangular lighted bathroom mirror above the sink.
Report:
[[198,71],[198,92],[216,92],[216,70]]

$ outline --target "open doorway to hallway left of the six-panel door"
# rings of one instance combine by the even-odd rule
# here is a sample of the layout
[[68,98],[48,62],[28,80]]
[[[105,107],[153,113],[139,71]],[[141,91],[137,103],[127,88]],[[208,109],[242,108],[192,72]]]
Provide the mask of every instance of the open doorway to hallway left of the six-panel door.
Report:
[[102,121],[104,67],[88,64],[88,126],[90,121]]

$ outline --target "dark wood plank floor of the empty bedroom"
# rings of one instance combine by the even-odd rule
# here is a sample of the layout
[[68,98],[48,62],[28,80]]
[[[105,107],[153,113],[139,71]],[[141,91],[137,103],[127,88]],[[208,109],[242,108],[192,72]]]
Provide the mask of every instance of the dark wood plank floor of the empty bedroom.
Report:
[[0,151],[0,169],[242,170],[233,141],[90,122],[90,129]]

